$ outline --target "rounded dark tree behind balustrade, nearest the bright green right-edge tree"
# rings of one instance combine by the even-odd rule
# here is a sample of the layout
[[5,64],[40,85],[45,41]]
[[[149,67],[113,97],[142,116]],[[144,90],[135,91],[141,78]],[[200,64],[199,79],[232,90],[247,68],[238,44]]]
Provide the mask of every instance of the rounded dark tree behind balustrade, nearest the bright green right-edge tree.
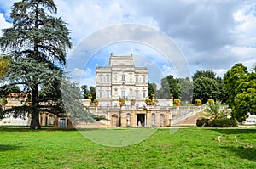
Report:
[[200,77],[195,79],[193,86],[193,103],[195,103],[195,99],[201,99],[202,103],[206,103],[208,99],[218,99],[218,82],[214,79]]

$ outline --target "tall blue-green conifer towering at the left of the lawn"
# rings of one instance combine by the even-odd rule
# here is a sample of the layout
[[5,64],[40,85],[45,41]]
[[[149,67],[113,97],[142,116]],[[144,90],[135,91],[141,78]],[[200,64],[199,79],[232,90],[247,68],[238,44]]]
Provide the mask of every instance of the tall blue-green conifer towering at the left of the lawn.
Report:
[[[61,66],[66,65],[67,49],[72,47],[72,43],[61,18],[49,15],[56,12],[53,0],[14,3],[10,13],[13,26],[3,29],[3,37],[0,37],[0,47],[12,59],[2,82],[22,84],[24,90],[32,92],[32,107],[14,109],[15,115],[31,111],[31,129],[40,128],[40,111],[58,115],[62,110],[59,101],[63,76]],[[38,97],[38,87],[45,89],[44,98]],[[55,98],[48,98],[49,93]],[[51,106],[40,104],[49,100]]]

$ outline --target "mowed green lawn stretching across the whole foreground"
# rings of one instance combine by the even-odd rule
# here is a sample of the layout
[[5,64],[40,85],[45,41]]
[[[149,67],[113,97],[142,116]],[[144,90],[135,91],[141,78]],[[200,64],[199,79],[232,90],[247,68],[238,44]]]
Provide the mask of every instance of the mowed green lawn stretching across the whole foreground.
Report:
[[73,128],[0,127],[0,137],[1,168],[256,168],[256,127],[159,129],[125,147]]

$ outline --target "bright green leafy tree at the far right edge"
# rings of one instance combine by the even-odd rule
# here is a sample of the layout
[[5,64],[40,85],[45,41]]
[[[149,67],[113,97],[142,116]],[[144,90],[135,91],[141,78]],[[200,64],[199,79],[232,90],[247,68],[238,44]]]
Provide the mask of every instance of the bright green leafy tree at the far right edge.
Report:
[[256,115],[255,69],[249,73],[244,65],[234,65],[225,75],[225,87],[234,87],[233,90],[229,90],[232,118],[241,122],[246,120],[248,113]]

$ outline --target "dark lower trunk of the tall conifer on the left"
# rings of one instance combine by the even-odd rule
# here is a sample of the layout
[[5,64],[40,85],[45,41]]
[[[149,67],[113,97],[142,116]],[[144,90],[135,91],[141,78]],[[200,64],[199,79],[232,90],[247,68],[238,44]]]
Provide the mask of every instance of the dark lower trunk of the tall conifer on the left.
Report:
[[30,123],[30,129],[41,129],[39,122],[39,110],[38,110],[38,84],[35,82],[32,87],[32,117]]

